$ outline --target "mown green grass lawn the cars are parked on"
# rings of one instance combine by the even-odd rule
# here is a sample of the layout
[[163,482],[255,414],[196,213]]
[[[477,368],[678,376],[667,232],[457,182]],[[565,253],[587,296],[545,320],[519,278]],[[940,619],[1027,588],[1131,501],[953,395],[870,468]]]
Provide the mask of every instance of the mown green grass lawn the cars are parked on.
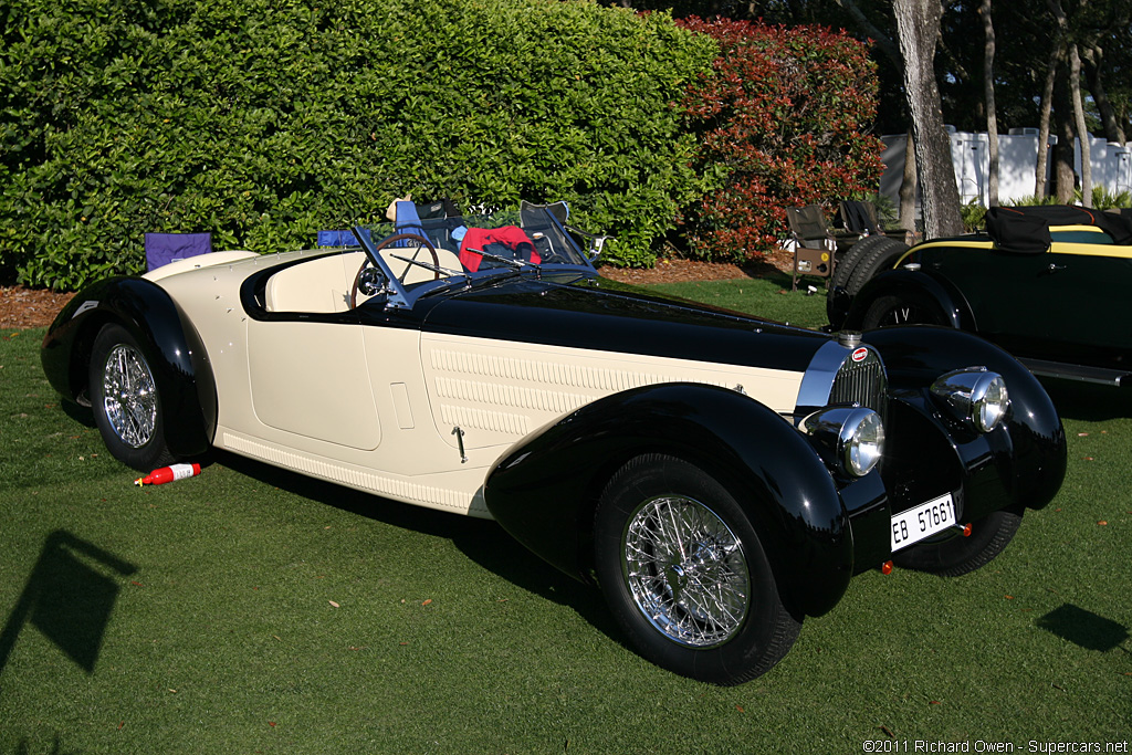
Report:
[[[782,288],[664,290],[824,321],[824,290]],[[773,671],[717,688],[643,661],[597,591],[490,522],[228,455],[135,487],[60,409],[42,335],[0,333],[0,755],[1132,739],[1132,406],[1112,392],[1055,386],[1069,477],[998,559],[866,573]]]

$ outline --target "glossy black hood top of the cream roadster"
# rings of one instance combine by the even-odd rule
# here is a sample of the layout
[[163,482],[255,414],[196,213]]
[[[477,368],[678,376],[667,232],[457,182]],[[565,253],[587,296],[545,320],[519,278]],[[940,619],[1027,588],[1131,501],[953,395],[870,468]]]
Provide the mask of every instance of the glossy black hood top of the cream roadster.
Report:
[[436,302],[423,329],[804,371],[830,336],[606,278],[514,276]]

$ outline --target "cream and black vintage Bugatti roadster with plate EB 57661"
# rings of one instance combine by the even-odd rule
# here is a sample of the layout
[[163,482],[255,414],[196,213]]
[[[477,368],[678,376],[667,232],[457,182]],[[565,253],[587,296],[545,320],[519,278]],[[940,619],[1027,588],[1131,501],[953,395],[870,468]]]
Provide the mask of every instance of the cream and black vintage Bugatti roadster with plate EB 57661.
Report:
[[986,564],[1061,486],[1048,397],[975,336],[652,295],[538,207],[353,240],[94,284],[44,369],[136,469],[222,448],[494,517],[715,684],[767,671],[855,574]]

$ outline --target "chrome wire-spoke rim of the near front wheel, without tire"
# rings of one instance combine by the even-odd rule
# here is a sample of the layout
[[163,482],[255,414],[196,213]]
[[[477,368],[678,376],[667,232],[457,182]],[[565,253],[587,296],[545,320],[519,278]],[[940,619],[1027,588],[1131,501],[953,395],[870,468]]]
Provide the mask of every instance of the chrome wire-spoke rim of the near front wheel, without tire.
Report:
[[700,501],[645,501],[629,518],[621,552],[633,600],[669,640],[711,647],[743,626],[751,604],[743,543]]

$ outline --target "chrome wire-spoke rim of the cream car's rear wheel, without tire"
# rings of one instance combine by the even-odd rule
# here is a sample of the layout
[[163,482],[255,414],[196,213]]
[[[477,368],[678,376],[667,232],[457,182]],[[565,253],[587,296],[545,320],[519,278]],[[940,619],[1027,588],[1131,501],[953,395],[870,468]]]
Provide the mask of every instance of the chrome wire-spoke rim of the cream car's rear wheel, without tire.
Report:
[[147,444],[157,423],[157,391],[136,349],[126,344],[111,349],[102,370],[102,396],[114,435],[131,448]]

